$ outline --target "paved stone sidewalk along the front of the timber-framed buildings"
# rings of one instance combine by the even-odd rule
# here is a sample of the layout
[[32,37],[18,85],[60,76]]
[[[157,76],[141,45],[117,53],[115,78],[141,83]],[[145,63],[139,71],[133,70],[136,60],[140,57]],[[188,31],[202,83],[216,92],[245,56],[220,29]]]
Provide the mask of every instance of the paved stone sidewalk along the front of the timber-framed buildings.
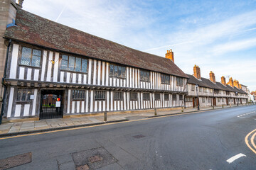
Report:
[[[235,106],[232,106],[235,107]],[[222,108],[221,106],[215,109]],[[224,106],[230,108],[230,106]],[[212,110],[212,107],[200,108],[200,111]],[[157,116],[172,115],[178,113],[197,112],[197,108],[186,108],[181,112],[181,109],[171,111],[157,111]],[[75,128],[80,126],[99,125],[104,123],[120,122],[127,120],[138,120],[143,118],[154,117],[154,111],[145,111],[140,113],[111,113],[107,115],[107,122],[104,121],[104,115],[82,116],[80,118],[58,118],[38,121],[26,121],[18,123],[3,123],[0,125],[0,137],[9,135],[21,135],[31,132],[43,132],[50,130],[59,130],[64,128]]]

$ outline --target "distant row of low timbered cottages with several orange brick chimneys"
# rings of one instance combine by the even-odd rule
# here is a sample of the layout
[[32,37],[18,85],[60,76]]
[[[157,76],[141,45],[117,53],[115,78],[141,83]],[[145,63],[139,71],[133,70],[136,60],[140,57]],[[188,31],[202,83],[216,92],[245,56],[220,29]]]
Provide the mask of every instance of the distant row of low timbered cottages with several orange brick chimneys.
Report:
[[[242,90],[239,81],[230,77],[226,84],[225,77],[221,82],[215,81],[215,74],[210,72],[210,79],[201,77],[198,66],[193,67],[193,75],[188,75],[188,96],[186,107],[227,106],[247,103],[247,92]],[[199,102],[198,102],[199,101]]]

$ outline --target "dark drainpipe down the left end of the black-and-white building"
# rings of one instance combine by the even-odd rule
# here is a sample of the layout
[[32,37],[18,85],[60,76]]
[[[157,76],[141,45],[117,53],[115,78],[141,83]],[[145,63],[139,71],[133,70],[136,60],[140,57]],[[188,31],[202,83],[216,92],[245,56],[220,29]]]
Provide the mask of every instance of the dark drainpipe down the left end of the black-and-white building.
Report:
[[4,103],[6,101],[6,85],[4,83],[5,81],[5,78],[6,78],[6,70],[7,70],[7,63],[8,63],[8,56],[9,56],[9,48],[10,48],[10,45],[11,45],[11,39],[9,40],[9,44],[7,46],[7,50],[6,50],[6,63],[4,65],[4,77],[1,81],[1,84],[3,84],[4,86],[4,96],[3,96],[3,101],[1,103],[1,113],[0,113],[0,125],[1,125],[1,121],[3,119],[3,115],[4,115]]

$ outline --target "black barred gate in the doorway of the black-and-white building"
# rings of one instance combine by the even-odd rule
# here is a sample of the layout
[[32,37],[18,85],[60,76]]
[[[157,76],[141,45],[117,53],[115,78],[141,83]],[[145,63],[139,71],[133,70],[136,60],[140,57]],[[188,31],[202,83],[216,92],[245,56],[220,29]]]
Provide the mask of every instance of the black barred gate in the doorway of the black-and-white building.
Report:
[[42,91],[39,119],[63,118],[63,91]]

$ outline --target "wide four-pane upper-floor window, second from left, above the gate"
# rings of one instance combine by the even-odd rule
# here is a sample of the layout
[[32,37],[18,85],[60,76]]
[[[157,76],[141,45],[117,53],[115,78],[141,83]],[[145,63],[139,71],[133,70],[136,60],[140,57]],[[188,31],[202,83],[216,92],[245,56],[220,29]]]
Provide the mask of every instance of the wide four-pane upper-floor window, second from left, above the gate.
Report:
[[60,69],[65,69],[72,72],[87,72],[87,59],[62,55]]

